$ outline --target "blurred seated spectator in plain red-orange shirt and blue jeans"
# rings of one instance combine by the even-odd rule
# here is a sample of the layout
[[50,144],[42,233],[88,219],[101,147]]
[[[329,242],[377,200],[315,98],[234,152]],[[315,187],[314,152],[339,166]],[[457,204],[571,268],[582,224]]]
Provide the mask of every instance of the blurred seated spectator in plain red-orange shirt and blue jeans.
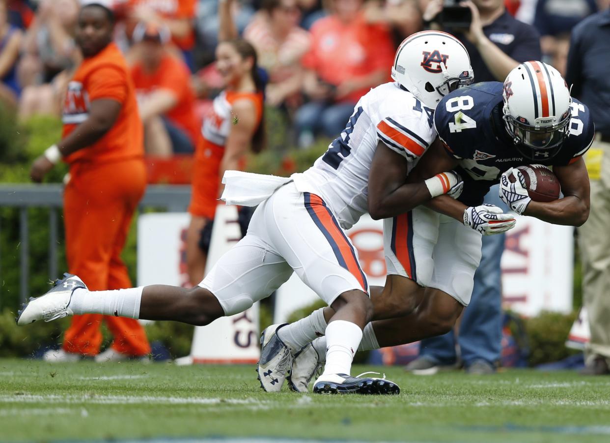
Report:
[[362,0],[331,0],[331,15],[311,27],[312,46],[303,58],[304,92],[312,101],[295,115],[298,144],[314,135],[336,137],[371,87],[389,78],[394,50],[386,27],[369,24]]

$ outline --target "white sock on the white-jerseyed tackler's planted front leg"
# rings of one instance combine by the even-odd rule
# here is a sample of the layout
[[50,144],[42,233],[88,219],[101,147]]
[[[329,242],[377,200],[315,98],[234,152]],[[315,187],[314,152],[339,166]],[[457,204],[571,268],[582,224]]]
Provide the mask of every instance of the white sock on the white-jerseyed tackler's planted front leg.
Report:
[[335,320],[326,326],[326,366],[324,374],[347,374],[362,340],[362,329],[356,323]]

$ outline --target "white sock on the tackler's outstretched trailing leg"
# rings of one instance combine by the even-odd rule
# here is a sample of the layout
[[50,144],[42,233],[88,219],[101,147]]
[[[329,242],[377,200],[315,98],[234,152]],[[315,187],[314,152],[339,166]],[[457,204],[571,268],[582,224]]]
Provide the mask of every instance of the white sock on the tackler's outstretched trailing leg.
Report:
[[76,315],[103,314],[138,318],[143,289],[143,286],[113,291],[88,291],[78,288],[72,293],[68,306]]

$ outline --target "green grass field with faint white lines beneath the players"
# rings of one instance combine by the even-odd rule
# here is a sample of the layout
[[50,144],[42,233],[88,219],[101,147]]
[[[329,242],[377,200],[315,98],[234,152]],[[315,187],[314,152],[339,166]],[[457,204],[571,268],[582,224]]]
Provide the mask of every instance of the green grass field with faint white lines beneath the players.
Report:
[[610,441],[608,377],[531,370],[412,376],[400,368],[386,374],[400,395],[267,394],[252,366],[0,360],[0,441]]

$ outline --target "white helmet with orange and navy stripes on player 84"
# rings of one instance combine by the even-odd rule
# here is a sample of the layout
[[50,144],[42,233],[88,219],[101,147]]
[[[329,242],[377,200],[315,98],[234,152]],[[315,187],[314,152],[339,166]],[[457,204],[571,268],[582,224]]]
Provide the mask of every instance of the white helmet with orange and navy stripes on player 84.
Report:
[[559,152],[569,134],[570,91],[559,71],[543,62],[525,62],[504,81],[503,119],[519,152],[545,160]]

